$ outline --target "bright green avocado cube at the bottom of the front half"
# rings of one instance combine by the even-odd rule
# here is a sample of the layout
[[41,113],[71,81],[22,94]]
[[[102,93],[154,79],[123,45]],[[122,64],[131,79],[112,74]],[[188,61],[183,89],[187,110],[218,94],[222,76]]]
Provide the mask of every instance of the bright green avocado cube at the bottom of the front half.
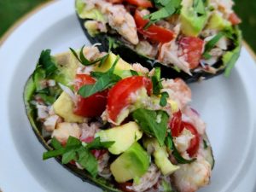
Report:
[[121,154],[110,165],[114,179],[125,183],[136,177],[142,177],[148,171],[149,156],[138,143],[133,143],[125,153]]

